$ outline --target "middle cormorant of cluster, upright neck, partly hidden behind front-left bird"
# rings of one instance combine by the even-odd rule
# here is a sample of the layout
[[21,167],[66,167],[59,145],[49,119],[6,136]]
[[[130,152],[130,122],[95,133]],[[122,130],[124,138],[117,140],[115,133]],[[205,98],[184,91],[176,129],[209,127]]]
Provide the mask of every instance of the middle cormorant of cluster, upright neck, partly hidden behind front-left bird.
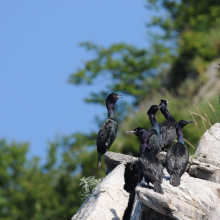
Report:
[[149,120],[151,122],[152,128],[148,131],[149,139],[148,139],[148,147],[154,152],[156,156],[159,156],[161,151],[161,142],[162,142],[162,135],[160,133],[160,126],[155,118],[155,114],[157,113],[158,109],[161,106],[152,105],[148,110],[147,114],[149,115]]

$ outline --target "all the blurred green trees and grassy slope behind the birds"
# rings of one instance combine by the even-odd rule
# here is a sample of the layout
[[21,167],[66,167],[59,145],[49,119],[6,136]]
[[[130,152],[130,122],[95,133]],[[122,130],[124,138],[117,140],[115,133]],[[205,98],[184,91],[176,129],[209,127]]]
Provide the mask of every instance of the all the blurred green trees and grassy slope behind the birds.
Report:
[[[74,85],[90,85],[107,77],[110,83],[85,100],[103,105],[103,111],[108,93],[124,94],[125,101],[117,103],[120,123],[110,150],[133,156],[138,155],[139,143],[125,132],[138,126],[149,129],[147,109],[159,104],[161,98],[170,100],[169,110],[176,120],[192,120],[189,111],[197,114],[192,114],[197,123],[183,129],[184,138],[195,147],[205,130],[220,118],[220,88],[208,86],[207,71],[220,52],[218,1],[149,0],[147,6],[158,10],[158,17],[148,23],[149,30],[153,33],[155,27],[160,29],[160,34],[149,35],[149,48],[124,43],[105,48],[83,43],[95,56],[69,78]],[[159,123],[164,120],[160,113],[157,119]],[[97,119],[98,126],[103,120]],[[70,219],[82,204],[80,179],[105,176],[104,163],[96,170],[97,132],[98,128],[91,133],[74,133],[49,143],[43,165],[39,158],[27,159],[28,144],[1,140],[1,219]],[[186,146],[191,154],[195,152]]]

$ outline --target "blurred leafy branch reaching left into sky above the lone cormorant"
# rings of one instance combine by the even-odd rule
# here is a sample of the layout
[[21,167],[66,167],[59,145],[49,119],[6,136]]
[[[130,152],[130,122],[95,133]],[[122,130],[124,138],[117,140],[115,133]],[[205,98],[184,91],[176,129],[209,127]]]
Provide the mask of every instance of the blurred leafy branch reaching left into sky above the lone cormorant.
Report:
[[105,105],[109,91],[120,91],[135,97],[132,105],[137,106],[148,94],[159,88],[158,66],[168,61],[169,57],[168,49],[158,44],[151,51],[127,44],[114,44],[104,48],[86,42],[81,46],[94,52],[96,57],[73,73],[69,82],[79,85],[95,83],[97,79],[104,83],[106,78],[109,79],[104,91],[91,93],[86,99],[88,103],[102,105]]

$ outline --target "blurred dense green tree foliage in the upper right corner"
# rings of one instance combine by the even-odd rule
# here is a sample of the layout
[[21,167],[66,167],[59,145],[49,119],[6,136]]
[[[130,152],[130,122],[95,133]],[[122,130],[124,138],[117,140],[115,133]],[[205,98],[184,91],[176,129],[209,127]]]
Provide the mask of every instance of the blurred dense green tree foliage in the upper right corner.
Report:
[[148,22],[148,26],[160,27],[163,30],[161,39],[176,43],[177,55],[169,70],[166,88],[171,87],[178,92],[188,77],[198,79],[198,85],[201,86],[204,83],[204,71],[210,61],[219,56],[219,2],[150,0],[147,5],[160,12],[157,13],[159,16]]

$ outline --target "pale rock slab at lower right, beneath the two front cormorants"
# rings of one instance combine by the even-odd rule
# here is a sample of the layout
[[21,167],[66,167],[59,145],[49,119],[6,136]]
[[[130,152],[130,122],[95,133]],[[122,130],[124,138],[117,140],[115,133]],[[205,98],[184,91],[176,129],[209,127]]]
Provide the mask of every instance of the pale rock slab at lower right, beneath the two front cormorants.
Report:
[[[157,219],[181,220],[218,220],[220,219],[220,184],[190,177],[184,173],[181,184],[173,187],[169,184],[169,174],[164,169],[162,183],[164,195],[155,193],[152,187],[136,187],[139,201],[134,204],[132,220],[139,220],[137,215],[139,202],[156,211],[160,217]],[[136,213],[136,215],[134,215]],[[154,214],[157,214],[154,213]],[[145,213],[148,215],[148,212]],[[142,216],[141,219],[145,218]],[[153,218],[147,218],[151,220]],[[156,218],[155,218],[156,219]]]

